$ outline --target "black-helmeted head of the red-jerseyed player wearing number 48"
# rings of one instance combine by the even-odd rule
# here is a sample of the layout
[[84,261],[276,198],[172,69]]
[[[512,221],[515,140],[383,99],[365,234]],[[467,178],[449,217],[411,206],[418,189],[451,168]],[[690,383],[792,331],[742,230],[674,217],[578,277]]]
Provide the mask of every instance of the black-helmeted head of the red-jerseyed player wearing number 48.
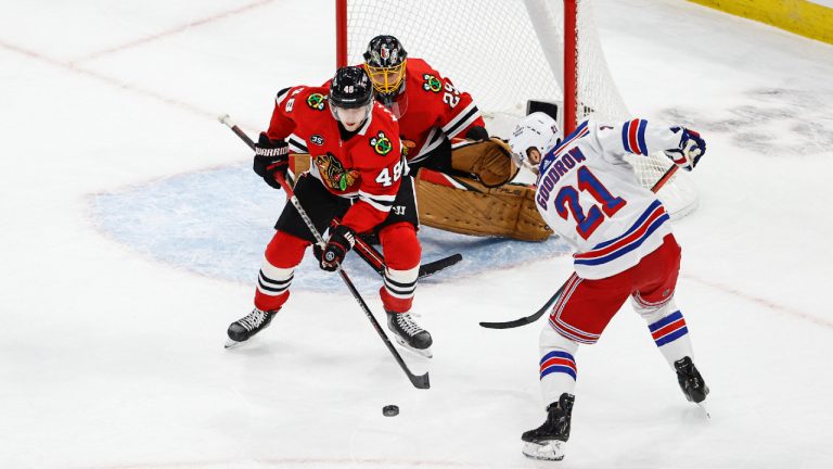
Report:
[[373,86],[361,67],[342,67],[330,83],[330,112],[347,131],[356,131],[373,109]]

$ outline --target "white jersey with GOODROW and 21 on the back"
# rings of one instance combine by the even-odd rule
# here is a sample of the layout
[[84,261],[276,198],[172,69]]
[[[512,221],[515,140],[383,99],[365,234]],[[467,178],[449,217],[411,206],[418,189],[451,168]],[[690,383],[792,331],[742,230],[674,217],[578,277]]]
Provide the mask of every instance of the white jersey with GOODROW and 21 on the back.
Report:
[[541,159],[536,205],[576,249],[579,277],[601,279],[633,267],[671,232],[662,202],[640,186],[624,156],[676,149],[680,138],[679,128],[643,119],[616,126],[586,121]]

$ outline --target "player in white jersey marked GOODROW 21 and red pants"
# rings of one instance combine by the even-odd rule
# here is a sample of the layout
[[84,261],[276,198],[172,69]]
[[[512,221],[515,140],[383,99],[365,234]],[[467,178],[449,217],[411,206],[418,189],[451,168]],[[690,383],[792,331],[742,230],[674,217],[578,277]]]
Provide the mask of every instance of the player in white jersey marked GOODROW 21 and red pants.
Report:
[[[540,334],[540,383],[547,421],[523,434],[523,452],[560,460],[569,438],[579,344],[595,343],[630,297],[689,401],[708,394],[692,362],[691,340],[674,302],[680,246],[668,214],[637,180],[626,154],[665,154],[683,169],[706,150],[700,135],[635,118],[620,125],[584,122],[562,141],[548,115],[522,119],[509,141],[520,165],[538,173],[536,204],[547,224],[576,250],[575,272]],[[701,404],[702,405],[702,404]]]

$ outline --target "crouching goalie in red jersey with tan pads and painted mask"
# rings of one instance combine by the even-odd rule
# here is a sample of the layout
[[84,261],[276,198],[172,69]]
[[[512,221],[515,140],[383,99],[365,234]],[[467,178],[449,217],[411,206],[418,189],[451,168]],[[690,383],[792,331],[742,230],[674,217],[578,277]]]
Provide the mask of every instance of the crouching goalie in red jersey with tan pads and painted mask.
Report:
[[463,234],[539,241],[552,231],[533,202],[534,189],[507,186],[517,174],[511,149],[489,138],[472,96],[394,36],[364,52],[376,100],[399,118],[408,164],[416,174],[420,219]]

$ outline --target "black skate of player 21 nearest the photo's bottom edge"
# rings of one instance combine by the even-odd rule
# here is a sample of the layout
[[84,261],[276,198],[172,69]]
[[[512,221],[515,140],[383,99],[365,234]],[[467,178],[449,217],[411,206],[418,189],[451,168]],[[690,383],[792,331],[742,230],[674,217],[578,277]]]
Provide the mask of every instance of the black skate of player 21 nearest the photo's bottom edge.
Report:
[[569,440],[569,420],[574,401],[573,394],[562,394],[559,402],[547,407],[547,421],[521,436],[524,441],[523,452],[526,457],[546,460],[564,459],[564,444]]

